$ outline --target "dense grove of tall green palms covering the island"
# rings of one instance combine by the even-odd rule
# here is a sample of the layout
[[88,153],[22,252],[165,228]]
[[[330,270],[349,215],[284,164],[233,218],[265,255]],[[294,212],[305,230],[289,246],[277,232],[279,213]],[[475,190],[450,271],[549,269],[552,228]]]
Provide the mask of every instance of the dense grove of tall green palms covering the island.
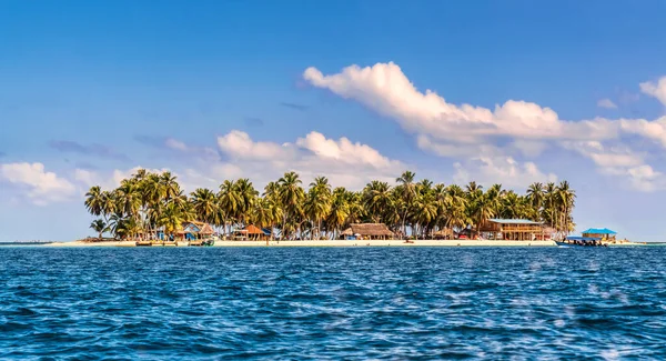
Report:
[[[295,172],[258,191],[248,179],[225,180],[218,190],[183,192],[170,172],[140,170],[112,191],[92,187],[85,207],[101,217],[91,228],[115,238],[163,230],[173,234],[182,223],[199,220],[229,234],[246,224],[272,230],[281,239],[336,238],[351,223],[386,223],[397,234],[428,238],[442,229],[474,229],[491,218],[543,221],[558,232],[574,228],[575,192],[567,181],[533,183],[525,194],[476,182],[464,188],[415,180],[406,171],[395,184],[372,181],[362,191],[332,188],[325,177],[307,188]],[[408,232],[407,232],[408,231]]]

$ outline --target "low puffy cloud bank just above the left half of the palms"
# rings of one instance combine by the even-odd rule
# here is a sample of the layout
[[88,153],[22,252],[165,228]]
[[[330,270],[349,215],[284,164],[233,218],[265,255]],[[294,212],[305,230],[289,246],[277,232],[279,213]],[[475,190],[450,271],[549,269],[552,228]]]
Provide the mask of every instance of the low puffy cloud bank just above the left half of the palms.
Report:
[[[286,171],[299,172],[304,184],[317,176],[325,176],[334,187],[361,189],[373,179],[394,181],[407,168],[366,144],[344,137],[329,139],[315,131],[293,142],[276,143],[256,141],[245,132],[233,130],[219,137],[216,143],[219,152],[200,152],[178,140],[160,141],[160,147],[186,157],[186,167],[170,170],[185,192],[200,187],[216,189],[223,180],[239,178],[249,178],[261,189]],[[73,178],[85,189],[92,185],[112,189],[139,169],[141,167],[111,172],[77,169]],[[167,169],[148,170],[161,172]]]

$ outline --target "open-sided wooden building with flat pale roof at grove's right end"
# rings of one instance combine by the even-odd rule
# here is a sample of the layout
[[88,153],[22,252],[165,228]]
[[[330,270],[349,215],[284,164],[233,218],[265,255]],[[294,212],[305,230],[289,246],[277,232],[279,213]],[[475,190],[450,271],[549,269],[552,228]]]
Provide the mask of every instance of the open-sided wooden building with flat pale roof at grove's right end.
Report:
[[480,229],[482,237],[492,240],[532,241],[544,239],[543,222],[526,219],[490,219]]

